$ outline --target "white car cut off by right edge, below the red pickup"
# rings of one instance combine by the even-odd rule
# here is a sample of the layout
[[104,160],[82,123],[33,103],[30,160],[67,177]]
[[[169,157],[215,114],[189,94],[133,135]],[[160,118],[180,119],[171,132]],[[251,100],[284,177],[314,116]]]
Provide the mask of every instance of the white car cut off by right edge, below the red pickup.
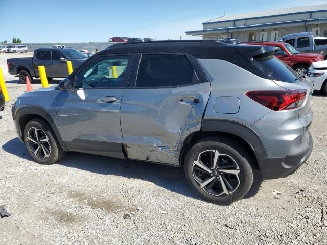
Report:
[[306,72],[306,79],[314,83],[314,90],[327,95],[327,60],[313,62]]

